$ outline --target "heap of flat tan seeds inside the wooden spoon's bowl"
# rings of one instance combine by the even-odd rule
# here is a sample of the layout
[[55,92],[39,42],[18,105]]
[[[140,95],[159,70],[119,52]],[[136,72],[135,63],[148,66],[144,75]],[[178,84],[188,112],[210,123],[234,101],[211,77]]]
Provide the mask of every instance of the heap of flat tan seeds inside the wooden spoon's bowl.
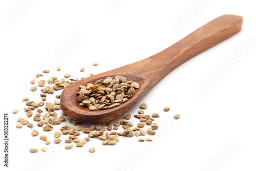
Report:
[[127,81],[125,77],[116,76],[115,79],[107,77],[94,84],[80,86],[77,101],[91,111],[111,109],[127,101],[138,88],[137,82]]

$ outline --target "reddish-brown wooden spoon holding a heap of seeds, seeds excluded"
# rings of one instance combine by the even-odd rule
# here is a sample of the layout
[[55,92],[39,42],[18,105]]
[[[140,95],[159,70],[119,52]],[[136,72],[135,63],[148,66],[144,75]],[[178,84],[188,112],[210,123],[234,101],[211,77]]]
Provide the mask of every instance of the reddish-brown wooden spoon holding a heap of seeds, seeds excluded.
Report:
[[[129,111],[155,83],[181,63],[236,34],[241,30],[242,24],[241,16],[222,15],[151,57],[72,83],[61,93],[61,110],[68,116],[90,122],[115,119]],[[101,78],[105,79],[109,76],[113,78],[117,75],[140,84],[140,88],[135,90],[135,94],[128,101],[112,109],[97,111],[90,111],[79,105],[77,101],[79,86],[86,86],[87,83],[95,83]]]

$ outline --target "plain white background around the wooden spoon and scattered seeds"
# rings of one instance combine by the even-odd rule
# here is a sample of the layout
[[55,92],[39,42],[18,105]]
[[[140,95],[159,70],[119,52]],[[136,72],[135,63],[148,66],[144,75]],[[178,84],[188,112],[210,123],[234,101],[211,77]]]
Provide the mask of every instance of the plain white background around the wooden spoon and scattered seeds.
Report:
[[[21,4],[13,0],[1,1],[0,110],[1,114],[10,113],[10,167],[4,169],[255,170],[256,45],[235,65],[227,62],[229,55],[243,48],[246,39],[256,41],[256,12],[252,1],[205,0],[204,7],[179,31],[175,22],[181,23],[182,15],[189,13],[190,6],[198,5],[199,0],[114,2],[118,5],[112,8],[109,0],[38,0],[8,27],[6,17],[10,18],[12,9],[17,11]],[[139,104],[145,102],[148,104],[146,114],[160,114],[155,121],[165,129],[157,130],[158,137],[153,137],[153,145],[138,142],[141,137],[120,137],[115,146],[103,146],[99,140],[91,139],[82,148],[73,147],[68,151],[53,143],[53,131],[59,126],[50,133],[34,126],[39,135],[48,136],[50,145],[39,140],[39,135],[32,137],[32,130],[27,126],[16,129],[16,118],[27,118],[23,97],[40,100],[40,89],[30,92],[28,85],[42,70],[51,70],[43,79],[62,78],[64,74],[80,78],[121,67],[160,52],[223,14],[243,16],[242,31],[175,69],[128,112],[137,114]],[[58,53],[72,44],[75,35],[86,39],[65,59],[59,57]],[[53,61],[61,67],[60,72],[56,71]],[[92,66],[94,62],[99,66]],[[204,80],[209,81],[214,77],[212,72],[220,71],[222,66],[227,66],[229,72],[200,98],[197,89],[203,88]],[[83,73],[79,71],[81,67],[85,68]],[[60,91],[48,95],[47,101],[53,102],[56,94]],[[171,110],[163,112],[164,107]],[[11,114],[12,109],[19,109],[18,114]],[[175,114],[181,114],[180,120],[173,119]],[[32,117],[28,120],[32,121]],[[3,117],[1,121],[3,124]],[[132,121],[138,123],[134,117]],[[173,127],[166,131],[164,124]],[[120,127],[118,131],[122,130]],[[79,136],[83,137],[87,135]],[[63,142],[67,136],[60,138]],[[234,151],[229,149],[229,144],[236,146]],[[30,154],[30,147],[47,147],[48,153]],[[96,152],[90,154],[90,147],[95,147]],[[1,156],[3,149],[1,143]],[[140,151],[144,153],[138,157]],[[3,168],[2,160],[1,157]]]

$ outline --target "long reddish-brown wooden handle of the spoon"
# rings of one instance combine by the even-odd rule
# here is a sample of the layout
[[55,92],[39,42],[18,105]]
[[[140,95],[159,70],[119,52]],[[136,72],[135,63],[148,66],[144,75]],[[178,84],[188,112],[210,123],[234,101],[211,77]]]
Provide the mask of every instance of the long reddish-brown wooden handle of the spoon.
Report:
[[242,24],[241,16],[222,15],[167,49],[135,62],[136,65],[127,65],[127,71],[134,71],[135,75],[150,78],[150,84],[153,86],[183,62],[239,32]]

